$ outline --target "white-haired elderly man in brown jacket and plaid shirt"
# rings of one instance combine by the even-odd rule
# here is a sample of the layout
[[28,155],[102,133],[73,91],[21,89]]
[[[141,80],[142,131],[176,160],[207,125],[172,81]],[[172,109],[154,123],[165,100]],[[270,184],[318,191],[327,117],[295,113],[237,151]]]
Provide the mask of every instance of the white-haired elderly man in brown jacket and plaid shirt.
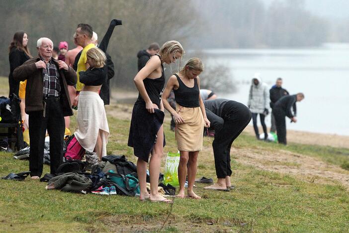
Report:
[[53,42],[46,37],[37,41],[39,56],[27,60],[13,71],[17,81],[27,80],[25,112],[29,115],[32,179],[42,175],[46,130],[50,136],[50,168],[55,174],[63,160],[64,116],[72,116],[68,85],[75,85],[77,75],[63,61],[52,58]]

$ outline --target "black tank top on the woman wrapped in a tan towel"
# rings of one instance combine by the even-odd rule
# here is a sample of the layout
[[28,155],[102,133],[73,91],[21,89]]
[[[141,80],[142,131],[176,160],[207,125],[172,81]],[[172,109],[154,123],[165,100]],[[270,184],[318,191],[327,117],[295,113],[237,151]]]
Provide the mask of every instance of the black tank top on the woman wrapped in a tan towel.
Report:
[[187,108],[200,107],[200,90],[199,86],[197,85],[197,80],[194,79],[194,87],[189,88],[180,80],[178,75],[174,75],[177,77],[179,83],[178,89],[174,90],[175,102],[177,102],[180,106]]

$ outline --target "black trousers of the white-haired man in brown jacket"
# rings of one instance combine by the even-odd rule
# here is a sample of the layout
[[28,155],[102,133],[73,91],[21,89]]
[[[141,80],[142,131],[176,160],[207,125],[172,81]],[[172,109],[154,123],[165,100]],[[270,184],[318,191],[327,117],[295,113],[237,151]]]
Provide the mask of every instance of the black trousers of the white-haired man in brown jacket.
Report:
[[44,99],[44,111],[29,113],[30,176],[41,176],[44,159],[44,145],[46,129],[50,136],[50,168],[55,174],[63,160],[63,140],[65,122],[59,99]]

